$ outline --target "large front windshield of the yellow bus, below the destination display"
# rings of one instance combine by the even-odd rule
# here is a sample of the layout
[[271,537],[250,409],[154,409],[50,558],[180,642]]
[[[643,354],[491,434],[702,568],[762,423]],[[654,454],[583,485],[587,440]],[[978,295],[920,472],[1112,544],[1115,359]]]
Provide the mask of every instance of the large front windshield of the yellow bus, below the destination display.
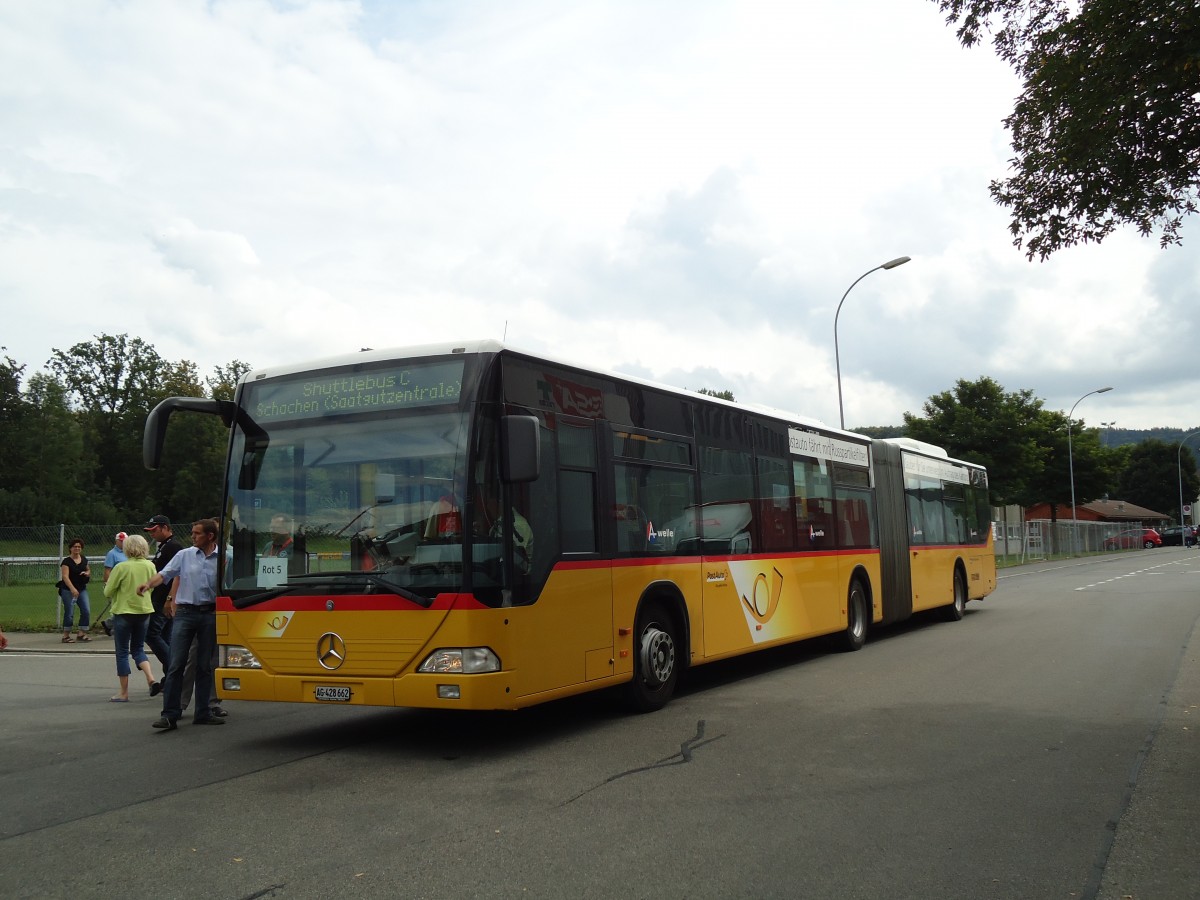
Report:
[[308,590],[391,593],[427,606],[460,589],[468,419],[457,404],[240,419],[227,485],[224,586],[234,604]]

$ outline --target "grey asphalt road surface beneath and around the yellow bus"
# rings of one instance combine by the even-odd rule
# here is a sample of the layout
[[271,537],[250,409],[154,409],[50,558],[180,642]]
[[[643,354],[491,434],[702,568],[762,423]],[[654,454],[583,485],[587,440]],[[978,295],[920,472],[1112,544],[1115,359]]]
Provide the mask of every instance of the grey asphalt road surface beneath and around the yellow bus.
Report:
[[[0,654],[7,896],[1193,898],[1200,552],[695,670],[652,715],[228,703]],[[1189,643],[1190,642],[1190,643]]]

